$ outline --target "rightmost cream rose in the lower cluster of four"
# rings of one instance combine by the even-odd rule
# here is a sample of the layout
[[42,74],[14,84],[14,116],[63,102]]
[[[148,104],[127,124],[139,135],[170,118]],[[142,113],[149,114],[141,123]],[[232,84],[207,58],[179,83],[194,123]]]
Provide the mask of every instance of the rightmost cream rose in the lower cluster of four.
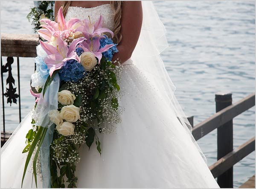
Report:
[[64,106],[61,109],[61,118],[71,123],[76,122],[80,119],[79,110],[80,108],[74,105]]

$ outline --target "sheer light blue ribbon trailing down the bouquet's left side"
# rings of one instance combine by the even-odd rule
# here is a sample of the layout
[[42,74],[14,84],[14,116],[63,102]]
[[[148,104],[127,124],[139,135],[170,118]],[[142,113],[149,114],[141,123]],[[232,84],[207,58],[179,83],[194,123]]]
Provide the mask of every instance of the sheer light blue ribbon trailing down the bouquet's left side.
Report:
[[49,112],[58,109],[58,90],[60,86],[60,78],[55,75],[51,84],[47,88],[44,98],[41,93],[38,104],[35,108],[36,115],[39,115],[37,124],[41,127],[48,127],[44,141],[40,148],[41,173],[43,178],[43,188],[51,188],[51,172],[50,172],[50,144],[52,143],[53,131],[55,124],[50,121]]

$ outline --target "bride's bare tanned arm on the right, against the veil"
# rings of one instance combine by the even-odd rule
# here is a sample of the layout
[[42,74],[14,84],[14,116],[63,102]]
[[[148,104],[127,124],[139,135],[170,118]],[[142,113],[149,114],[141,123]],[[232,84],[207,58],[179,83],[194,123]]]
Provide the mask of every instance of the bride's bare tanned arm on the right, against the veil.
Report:
[[121,18],[122,40],[117,46],[119,52],[113,55],[113,61],[119,58],[119,61],[123,63],[131,57],[140,36],[141,25],[141,1],[123,1]]

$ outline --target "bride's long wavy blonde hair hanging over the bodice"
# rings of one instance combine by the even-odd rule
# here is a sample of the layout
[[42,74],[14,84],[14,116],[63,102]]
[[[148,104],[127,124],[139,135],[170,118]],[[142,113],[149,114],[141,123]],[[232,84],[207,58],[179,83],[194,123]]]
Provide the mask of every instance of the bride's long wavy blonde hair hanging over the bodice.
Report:
[[[62,4],[62,13],[65,17],[67,13],[67,8],[71,5],[72,1],[63,1]],[[119,43],[122,40],[122,34],[121,34],[121,17],[122,17],[122,1],[111,1],[110,2],[113,10],[114,10],[114,37],[113,42]]]

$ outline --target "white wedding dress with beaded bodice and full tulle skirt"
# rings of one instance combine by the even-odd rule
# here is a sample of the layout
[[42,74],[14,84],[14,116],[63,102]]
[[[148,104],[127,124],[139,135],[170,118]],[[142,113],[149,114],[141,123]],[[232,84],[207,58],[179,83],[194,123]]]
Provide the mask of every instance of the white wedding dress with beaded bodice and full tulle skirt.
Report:
[[[103,16],[103,27],[113,29],[109,4],[94,8],[70,7],[66,20],[90,15]],[[143,15],[144,16],[144,15]],[[102,155],[93,146],[79,150],[78,188],[219,188],[195,141],[177,119],[177,113],[150,82],[140,62],[123,64],[119,99],[125,108],[122,123],[114,133],[101,133]],[[20,188],[26,154],[25,136],[31,128],[30,113],[1,150],[1,187]],[[30,171],[30,172],[29,172]],[[33,182],[33,185],[32,185]],[[35,187],[32,171],[26,173],[24,188]],[[42,181],[38,181],[42,187]]]

